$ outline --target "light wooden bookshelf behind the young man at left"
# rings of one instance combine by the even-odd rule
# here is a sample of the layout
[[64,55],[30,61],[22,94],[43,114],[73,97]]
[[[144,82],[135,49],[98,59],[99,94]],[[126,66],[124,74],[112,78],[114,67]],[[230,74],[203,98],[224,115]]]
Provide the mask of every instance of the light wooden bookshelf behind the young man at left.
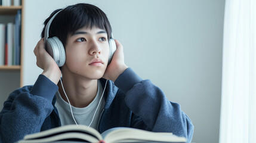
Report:
[[[6,82],[14,82],[14,83],[19,83],[19,87],[23,86],[23,5],[24,0],[21,0],[21,5],[20,6],[2,6],[0,5],[0,17],[1,21],[0,23],[7,24],[8,22],[15,22],[15,15],[17,14],[18,10],[21,10],[21,27],[20,27],[20,65],[17,66],[6,66],[6,65],[1,65],[0,66],[0,76],[1,77],[6,77],[1,80],[8,80]],[[13,78],[11,76],[14,76],[16,78]],[[11,81],[10,81],[11,80]],[[2,81],[3,82],[3,81]],[[5,81],[4,81],[5,82]],[[3,84],[3,83],[1,83]],[[17,84],[14,84],[14,89]],[[3,88],[3,87],[2,87]]]

